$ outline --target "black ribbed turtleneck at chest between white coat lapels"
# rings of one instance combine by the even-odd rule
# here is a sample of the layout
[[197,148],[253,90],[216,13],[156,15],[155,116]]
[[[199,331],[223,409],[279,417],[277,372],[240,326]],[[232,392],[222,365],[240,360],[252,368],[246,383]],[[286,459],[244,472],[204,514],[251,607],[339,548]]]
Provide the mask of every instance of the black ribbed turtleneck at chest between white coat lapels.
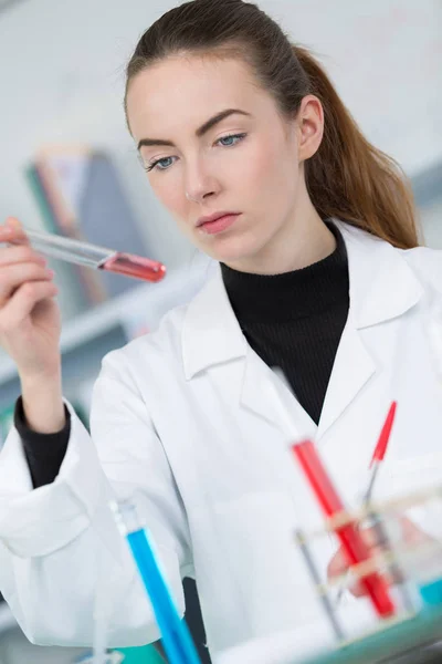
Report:
[[338,343],[347,320],[347,252],[332,224],[336,249],[283,274],[251,274],[221,263],[233,311],[253,350],[280,366],[312,419],[319,422]]

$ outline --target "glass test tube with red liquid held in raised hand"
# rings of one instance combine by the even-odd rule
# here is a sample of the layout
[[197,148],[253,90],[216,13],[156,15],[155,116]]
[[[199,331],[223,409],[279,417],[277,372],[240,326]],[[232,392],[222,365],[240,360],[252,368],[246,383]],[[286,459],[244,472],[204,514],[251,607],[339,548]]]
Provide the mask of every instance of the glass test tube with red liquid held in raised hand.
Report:
[[[150,258],[115,251],[40,230],[23,228],[23,231],[31,247],[52,258],[151,282],[161,281],[166,276],[166,267]],[[21,243],[22,241],[8,242],[8,245]]]

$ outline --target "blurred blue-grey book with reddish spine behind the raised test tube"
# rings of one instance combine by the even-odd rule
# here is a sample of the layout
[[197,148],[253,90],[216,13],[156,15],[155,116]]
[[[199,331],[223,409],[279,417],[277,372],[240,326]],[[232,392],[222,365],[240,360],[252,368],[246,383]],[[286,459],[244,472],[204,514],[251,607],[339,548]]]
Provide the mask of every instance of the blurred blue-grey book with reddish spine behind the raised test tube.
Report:
[[[118,173],[104,152],[87,146],[42,149],[27,177],[46,229],[116,251],[148,255]],[[130,290],[136,281],[72,266],[85,304]]]

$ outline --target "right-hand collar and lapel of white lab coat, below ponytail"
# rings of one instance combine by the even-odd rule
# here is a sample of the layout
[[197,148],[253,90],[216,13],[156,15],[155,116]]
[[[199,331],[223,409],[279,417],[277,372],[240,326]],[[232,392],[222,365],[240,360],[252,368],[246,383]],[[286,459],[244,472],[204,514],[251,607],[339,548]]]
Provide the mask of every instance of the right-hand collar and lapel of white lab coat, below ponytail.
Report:
[[403,314],[423,293],[409,266],[391,245],[346,224],[334,222],[347,249],[350,305],[320,414],[318,439],[376,372],[381,371],[364,344],[362,330]]

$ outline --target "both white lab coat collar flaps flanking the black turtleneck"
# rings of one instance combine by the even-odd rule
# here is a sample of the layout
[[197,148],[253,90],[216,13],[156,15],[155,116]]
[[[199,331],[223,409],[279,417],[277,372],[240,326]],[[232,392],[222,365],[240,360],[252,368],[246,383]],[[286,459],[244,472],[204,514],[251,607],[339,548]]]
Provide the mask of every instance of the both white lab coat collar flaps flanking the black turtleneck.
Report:
[[[413,307],[423,288],[394,247],[369,234],[333,220],[343,234],[348,256],[351,323],[356,330],[397,318]],[[182,328],[187,380],[211,365],[245,357],[248,343],[234,315],[218,263],[189,303]]]

